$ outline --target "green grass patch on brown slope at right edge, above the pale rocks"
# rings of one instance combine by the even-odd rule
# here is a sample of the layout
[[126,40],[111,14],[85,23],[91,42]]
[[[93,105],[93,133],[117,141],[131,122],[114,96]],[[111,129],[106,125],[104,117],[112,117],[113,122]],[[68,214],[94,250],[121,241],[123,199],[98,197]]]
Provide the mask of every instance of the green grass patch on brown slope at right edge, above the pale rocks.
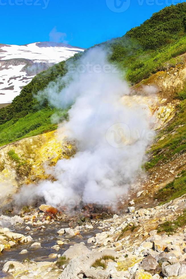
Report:
[[181,172],[181,177],[177,177],[172,182],[168,183],[164,188],[158,191],[154,197],[160,201],[160,205],[170,202],[175,198],[179,198],[186,193],[186,173]]

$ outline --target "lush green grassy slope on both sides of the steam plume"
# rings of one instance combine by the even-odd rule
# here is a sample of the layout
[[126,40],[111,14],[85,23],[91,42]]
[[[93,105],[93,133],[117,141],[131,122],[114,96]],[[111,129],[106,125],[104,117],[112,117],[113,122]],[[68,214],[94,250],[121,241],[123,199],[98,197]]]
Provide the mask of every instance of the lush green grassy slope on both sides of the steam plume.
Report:
[[[118,65],[123,76],[126,73],[128,81],[137,83],[160,70],[164,62],[186,52],[185,15],[186,3],[166,7],[123,37],[101,45],[112,50],[109,60]],[[76,54],[69,61],[77,61],[81,55]],[[53,108],[46,101],[41,106],[33,95],[65,75],[67,63],[60,62],[36,75],[12,104],[0,109],[0,145],[56,128],[50,122]]]

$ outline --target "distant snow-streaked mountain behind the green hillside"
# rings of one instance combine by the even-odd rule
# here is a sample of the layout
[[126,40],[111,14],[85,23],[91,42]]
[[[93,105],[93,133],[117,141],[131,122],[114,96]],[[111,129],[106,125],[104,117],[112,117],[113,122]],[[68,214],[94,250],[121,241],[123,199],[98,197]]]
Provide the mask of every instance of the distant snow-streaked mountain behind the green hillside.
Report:
[[0,44],[0,104],[11,102],[40,71],[81,51],[84,49],[55,42]]

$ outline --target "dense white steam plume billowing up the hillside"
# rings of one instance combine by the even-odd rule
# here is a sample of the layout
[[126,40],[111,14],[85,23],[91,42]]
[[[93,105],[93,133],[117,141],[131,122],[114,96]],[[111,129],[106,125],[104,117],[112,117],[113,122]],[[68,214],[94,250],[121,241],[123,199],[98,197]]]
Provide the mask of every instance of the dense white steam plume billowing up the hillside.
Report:
[[45,90],[58,108],[73,102],[63,126],[68,138],[77,142],[78,152],[50,170],[55,182],[25,186],[16,198],[43,196],[53,206],[74,205],[78,199],[113,204],[134,182],[154,136],[153,118],[140,104],[138,108],[122,104],[121,97],[130,89],[106,56],[102,48],[89,50],[64,89],[59,92],[59,84],[71,79],[69,73]]

